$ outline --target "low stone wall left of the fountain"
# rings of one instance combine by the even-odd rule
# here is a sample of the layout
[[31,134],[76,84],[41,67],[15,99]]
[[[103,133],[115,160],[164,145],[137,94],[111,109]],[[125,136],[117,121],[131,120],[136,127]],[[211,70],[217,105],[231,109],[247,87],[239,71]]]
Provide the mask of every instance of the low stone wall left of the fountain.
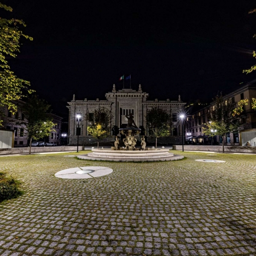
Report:
[[[46,147],[31,147],[31,153],[39,152],[58,152],[58,151],[76,151],[77,146],[46,146]],[[84,146],[79,146],[78,151],[84,150]],[[28,154],[29,147],[14,147],[14,148],[2,148],[0,149],[0,155],[9,154]]]

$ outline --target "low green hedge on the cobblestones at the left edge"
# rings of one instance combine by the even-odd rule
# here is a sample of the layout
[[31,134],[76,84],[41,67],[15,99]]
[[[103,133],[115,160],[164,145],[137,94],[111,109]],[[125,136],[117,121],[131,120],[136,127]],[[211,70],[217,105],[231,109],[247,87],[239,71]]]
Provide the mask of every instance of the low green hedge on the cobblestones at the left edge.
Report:
[[23,191],[19,189],[19,184],[20,182],[13,177],[0,172],[0,202],[22,195]]

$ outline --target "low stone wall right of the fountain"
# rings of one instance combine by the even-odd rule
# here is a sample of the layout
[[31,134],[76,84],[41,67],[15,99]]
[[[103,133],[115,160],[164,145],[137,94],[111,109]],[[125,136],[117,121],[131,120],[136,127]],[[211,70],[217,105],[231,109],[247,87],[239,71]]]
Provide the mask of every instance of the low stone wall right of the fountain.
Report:
[[[173,145],[174,150],[182,150],[182,145]],[[184,145],[184,150],[222,152],[222,146]],[[224,146],[225,152],[256,153],[255,146]]]

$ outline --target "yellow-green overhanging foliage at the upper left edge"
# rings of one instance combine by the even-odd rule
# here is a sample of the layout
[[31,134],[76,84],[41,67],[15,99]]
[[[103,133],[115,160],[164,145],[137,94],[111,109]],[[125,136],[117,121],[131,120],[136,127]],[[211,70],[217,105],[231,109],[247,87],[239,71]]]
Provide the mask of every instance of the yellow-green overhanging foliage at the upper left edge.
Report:
[[[0,8],[12,11],[11,7],[1,3]],[[8,55],[14,58],[17,56],[21,37],[33,40],[32,37],[23,34],[18,25],[26,27],[23,20],[0,18],[0,62],[2,62],[0,64],[0,107],[7,105],[13,114],[17,111],[17,106],[13,101],[24,97],[24,91],[33,92],[33,90],[28,90],[30,82],[16,77],[10,70],[6,59]]]

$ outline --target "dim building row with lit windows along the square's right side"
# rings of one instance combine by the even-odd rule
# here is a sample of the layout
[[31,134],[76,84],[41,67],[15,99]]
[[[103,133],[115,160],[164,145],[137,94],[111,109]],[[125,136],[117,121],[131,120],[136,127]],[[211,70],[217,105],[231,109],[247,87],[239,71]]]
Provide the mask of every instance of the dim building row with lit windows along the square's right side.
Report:
[[[223,96],[223,99],[231,99],[234,106],[238,106],[237,103],[246,98],[248,99],[248,104],[244,106],[244,111],[241,115],[243,124],[239,131],[228,133],[224,137],[225,145],[245,146],[249,143],[251,146],[256,146],[256,111],[251,107],[252,98],[256,98],[256,79]],[[185,124],[187,142],[193,144],[222,144],[222,137],[214,136],[208,138],[203,134],[203,124],[209,122],[210,110],[214,107],[214,104],[215,102],[212,102],[207,106],[190,111]]]

